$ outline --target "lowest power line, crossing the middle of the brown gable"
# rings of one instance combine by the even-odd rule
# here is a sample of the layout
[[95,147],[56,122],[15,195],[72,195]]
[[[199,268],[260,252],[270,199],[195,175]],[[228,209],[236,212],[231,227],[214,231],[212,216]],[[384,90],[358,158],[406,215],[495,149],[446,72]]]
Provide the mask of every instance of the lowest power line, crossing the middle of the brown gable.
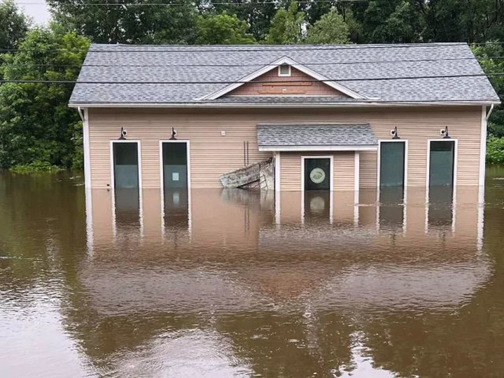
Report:
[[480,77],[480,76],[504,76],[504,72],[496,73],[468,73],[463,75],[436,75],[436,76],[391,76],[385,78],[330,78],[323,80],[258,80],[258,81],[88,81],[88,80],[0,80],[0,83],[57,83],[57,84],[143,84],[143,85],[158,85],[158,84],[169,84],[169,85],[182,85],[182,84],[246,84],[246,83],[264,83],[264,84],[278,84],[278,83],[325,83],[325,82],[354,82],[354,81],[379,81],[379,80],[418,80],[418,79],[428,79],[428,78],[470,78],[470,77]]

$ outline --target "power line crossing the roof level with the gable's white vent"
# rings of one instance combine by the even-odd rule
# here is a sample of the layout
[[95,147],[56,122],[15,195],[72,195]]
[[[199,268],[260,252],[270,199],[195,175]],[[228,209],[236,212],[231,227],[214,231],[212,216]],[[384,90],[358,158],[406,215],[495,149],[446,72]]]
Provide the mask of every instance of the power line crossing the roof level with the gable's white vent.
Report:
[[[394,60],[363,60],[353,62],[297,62],[302,66],[325,66],[325,65],[340,65],[340,64],[381,64],[381,63],[416,63],[416,62],[456,62],[458,60],[473,60],[474,57],[454,57],[454,58],[437,58],[437,59],[394,59]],[[504,56],[489,56],[476,57],[476,59],[504,59]],[[81,67],[266,67],[272,68],[278,64],[30,64],[30,63],[6,63],[3,66],[36,66],[36,67],[58,67],[58,68],[78,68]]]

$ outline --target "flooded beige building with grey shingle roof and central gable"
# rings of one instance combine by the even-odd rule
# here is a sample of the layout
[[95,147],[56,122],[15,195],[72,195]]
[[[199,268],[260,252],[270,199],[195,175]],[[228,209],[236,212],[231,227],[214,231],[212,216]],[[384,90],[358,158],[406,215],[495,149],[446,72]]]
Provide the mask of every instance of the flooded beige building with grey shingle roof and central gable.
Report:
[[70,106],[87,188],[221,188],[224,174],[274,158],[276,191],[451,196],[484,183],[499,99],[482,73],[465,43],[93,44]]

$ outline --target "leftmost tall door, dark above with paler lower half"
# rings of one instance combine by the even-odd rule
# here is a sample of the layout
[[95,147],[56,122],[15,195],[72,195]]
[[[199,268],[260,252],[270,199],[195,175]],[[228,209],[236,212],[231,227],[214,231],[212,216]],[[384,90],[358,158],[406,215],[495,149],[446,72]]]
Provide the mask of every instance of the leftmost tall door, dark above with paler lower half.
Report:
[[137,142],[113,142],[115,188],[139,188]]

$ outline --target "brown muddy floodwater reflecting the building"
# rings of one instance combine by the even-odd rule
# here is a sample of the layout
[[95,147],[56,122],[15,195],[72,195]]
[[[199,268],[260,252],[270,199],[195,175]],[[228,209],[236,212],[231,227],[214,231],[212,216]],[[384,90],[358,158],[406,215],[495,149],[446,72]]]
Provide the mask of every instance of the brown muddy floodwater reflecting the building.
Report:
[[0,377],[504,377],[504,170],[477,192],[1,174]]

